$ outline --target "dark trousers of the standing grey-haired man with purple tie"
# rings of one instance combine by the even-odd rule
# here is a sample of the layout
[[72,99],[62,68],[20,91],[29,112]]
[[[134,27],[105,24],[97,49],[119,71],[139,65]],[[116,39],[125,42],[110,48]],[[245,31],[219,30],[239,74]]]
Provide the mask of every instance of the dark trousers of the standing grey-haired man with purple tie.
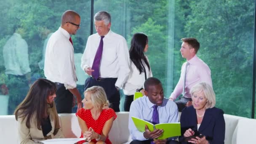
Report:
[[85,90],[92,86],[101,86],[107,95],[107,100],[110,103],[109,107],[114,109],[115,112],[120,112],[120,93],[115,88],[116,81],[117,78],[98,78],[98,80],[95,80],[93,77],[88,77],[85,80]]

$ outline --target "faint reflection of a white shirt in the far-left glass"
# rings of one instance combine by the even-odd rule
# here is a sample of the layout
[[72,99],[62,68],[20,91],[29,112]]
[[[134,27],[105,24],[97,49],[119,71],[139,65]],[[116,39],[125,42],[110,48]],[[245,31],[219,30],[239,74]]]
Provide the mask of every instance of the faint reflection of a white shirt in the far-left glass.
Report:
[[31,72],[27,42],[18,33],[13,33],[3,47],[5,74],[25,75]]

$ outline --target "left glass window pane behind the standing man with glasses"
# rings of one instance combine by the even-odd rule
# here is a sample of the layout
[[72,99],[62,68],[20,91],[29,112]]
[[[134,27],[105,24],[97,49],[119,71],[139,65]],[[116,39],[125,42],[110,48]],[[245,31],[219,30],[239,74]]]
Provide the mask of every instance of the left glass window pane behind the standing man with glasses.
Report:
[[12,115],[29,86],[45,77],[48,38],[60,27],[62,13],[69,9],[81,16],[81,27],[72,40],[77,71],[82,71],[77,74],[77,84],[83,93],[85,75],[79,57],[85,48],[85,37],[90,35],[91,0],[3,0],[0,8],[0,115]]

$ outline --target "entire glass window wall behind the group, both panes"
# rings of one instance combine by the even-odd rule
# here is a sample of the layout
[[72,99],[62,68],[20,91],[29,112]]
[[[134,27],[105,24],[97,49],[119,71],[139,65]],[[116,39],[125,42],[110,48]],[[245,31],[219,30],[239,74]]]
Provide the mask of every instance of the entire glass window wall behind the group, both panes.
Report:
[[[0,115],[13,114],[17,104],[24,99],[29,85],[37,78],[44,77],[44,45],[48,35],[60,26],[61,14],[68,9],[77,11],[81,16],[81,28],[72,39],[75,53],[78,53],[75,56],[77,71],[80,70],[80,74],[77,74],[78,88],[83,93],[86,76],[80,69],[79,57],[90,35],[91,1],[4,0],[0,8],[0,51],[3,53],[0,55],[0,105],[6,105]],[[149,51],[146,55],[153,76],[163,83],[165,97],[173,92],[180,77],[181,65],[186,61],[179,51],[180,39],[197,38],[200,42],[197,56],[211,69],[216,107],[227,114],[243,117],[251,117],[254,9],[253,0],[94,0],[94,14],[109,11],[112,31],[125,37],[128,47],[134,33],[144,32],[148,35]],[[8,74],[5,70],[4,59],[8,55],[12,59],[17,57],[8,52],[15,46],[5,48],[14,32],[19,35],[13,38],[12,45],[21,41],[27,43],[27,48],[19,46],[22,60],[13,60],[27,65],[19,75]],[[18,69],[14,62],[11,66]],[[29,69],[31,72],[28,72]]]

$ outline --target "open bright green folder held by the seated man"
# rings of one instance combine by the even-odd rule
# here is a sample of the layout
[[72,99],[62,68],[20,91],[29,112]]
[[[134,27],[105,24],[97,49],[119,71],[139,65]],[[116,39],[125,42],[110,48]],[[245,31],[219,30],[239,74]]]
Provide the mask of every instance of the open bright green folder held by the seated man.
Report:
[[131,118],[136,128],[141,132],[145,132],[145,125],[148,126],[149,131],[154,131],[155,129],[163,129],[163,134],[160,137],[158,137],[158,139],[167,139],[173,136],[181,136],[180,123],[160,123],[153,125],[152,123],[137,117]]

